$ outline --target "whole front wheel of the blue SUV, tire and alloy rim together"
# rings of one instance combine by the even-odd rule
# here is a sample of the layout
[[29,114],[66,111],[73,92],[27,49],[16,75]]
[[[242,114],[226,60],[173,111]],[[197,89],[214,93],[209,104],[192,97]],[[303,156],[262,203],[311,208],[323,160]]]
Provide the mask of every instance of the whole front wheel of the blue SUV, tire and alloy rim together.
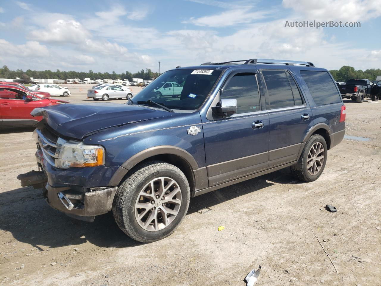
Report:
[[[174,180],[174,183],[171,180]],[[170,188],[164,193],[164,202],[162,202],[163,197],[157,198],[157,196],[149,194],[152,190],[150,184],[152,181],[156,191],[160,188],[155,184],[171,182]],[[179,202],[171,204],[166,201],[171,200],[169,196],[178,189],[179,191],[174,194],[174,197]],[[170,193],[167,193],[168,191]],[[143,192],[147,196],[142,196]],[[134,167],[131,170],[131,175],[118,187],[112,204],[112,213],[117,225],[126,235],[143,243],[154,242],[171,235],[180,225],[189,207],[190,193],[187,178],[178,167],[162,161],[145,162]],[[165,198],[167,195],[168,197]],[[148,204],[149,207],[136,208],[139,202],[142,206]],[[163,203],[166,205],[163,206]],[[170,209],[173,212],[173,214],[165,212],[167,225],[163,223],[164,209],[166,211]],[[139,215],[142,215],[141,219],[138,219],[137,216]],[[144,223],[147,222],[148,225],[145,226]]]

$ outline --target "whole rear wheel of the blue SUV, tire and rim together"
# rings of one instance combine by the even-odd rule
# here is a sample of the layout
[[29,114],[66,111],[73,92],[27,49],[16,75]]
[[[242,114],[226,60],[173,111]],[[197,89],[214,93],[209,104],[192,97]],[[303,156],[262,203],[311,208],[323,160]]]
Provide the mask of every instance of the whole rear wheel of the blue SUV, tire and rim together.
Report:
[[[320,146],[321,151],[318,151],[319,149],[317,149],[317,152],[318,152],[317,155],[319,156],[315,157],[316,160],[314,160],[314,147],[317,147],[317,146]],[[322,152],[324,157],[322,159],[318,159],[321,156]],[[313,163],[310,167],[311,161],[315,163]],[[327,143],[325,142],[325,139],[323,138],[322,135],[314,134],[310,138],[308,138],[306,145],[304,145],[302,154],[300,155],[298,162],[295,165],[291,166],[291,172],[296,178],[298,178],[301,181],[313,182],[317,180],[317,178],[319,178],[320,175],[322,174],[326,162],[327,162]]]

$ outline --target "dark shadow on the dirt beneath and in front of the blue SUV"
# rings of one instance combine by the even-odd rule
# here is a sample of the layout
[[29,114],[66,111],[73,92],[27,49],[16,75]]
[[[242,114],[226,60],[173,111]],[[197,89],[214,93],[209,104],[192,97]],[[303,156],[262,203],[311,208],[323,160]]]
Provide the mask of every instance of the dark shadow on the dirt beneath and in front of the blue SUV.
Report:
[[[259,191],[268,186],[301,183],[289,169],[263,175],[191,199],[187,215],[205,207]],[[71,219],[46,204],[42,190],[18,188],[0,195],[0,229],[13,237],[37,247],[47,248],[79,245],[90,242],[99,247],[133,247],[140,245],[121,231],[112,212],[96,217],[93,223]]]

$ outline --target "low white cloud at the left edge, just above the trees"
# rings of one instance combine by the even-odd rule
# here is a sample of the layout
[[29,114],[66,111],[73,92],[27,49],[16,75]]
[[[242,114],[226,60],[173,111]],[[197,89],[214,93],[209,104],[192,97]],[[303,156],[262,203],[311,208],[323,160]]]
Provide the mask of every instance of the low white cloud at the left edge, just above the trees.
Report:
[[36,41],[28,41],[24,45],[13,45],[4,39],[0,39],[0,50],[2,55],[17,57],[38,57],[49,54],[48,48]]

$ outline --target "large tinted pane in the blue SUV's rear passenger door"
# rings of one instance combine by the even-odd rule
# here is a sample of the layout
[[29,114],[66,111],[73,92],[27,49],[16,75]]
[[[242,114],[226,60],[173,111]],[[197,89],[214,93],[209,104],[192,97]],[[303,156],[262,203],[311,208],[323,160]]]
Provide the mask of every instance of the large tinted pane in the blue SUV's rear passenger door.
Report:
[[262,71],[269,93],[270,109],[294,106],[290,83],[285,71]]

